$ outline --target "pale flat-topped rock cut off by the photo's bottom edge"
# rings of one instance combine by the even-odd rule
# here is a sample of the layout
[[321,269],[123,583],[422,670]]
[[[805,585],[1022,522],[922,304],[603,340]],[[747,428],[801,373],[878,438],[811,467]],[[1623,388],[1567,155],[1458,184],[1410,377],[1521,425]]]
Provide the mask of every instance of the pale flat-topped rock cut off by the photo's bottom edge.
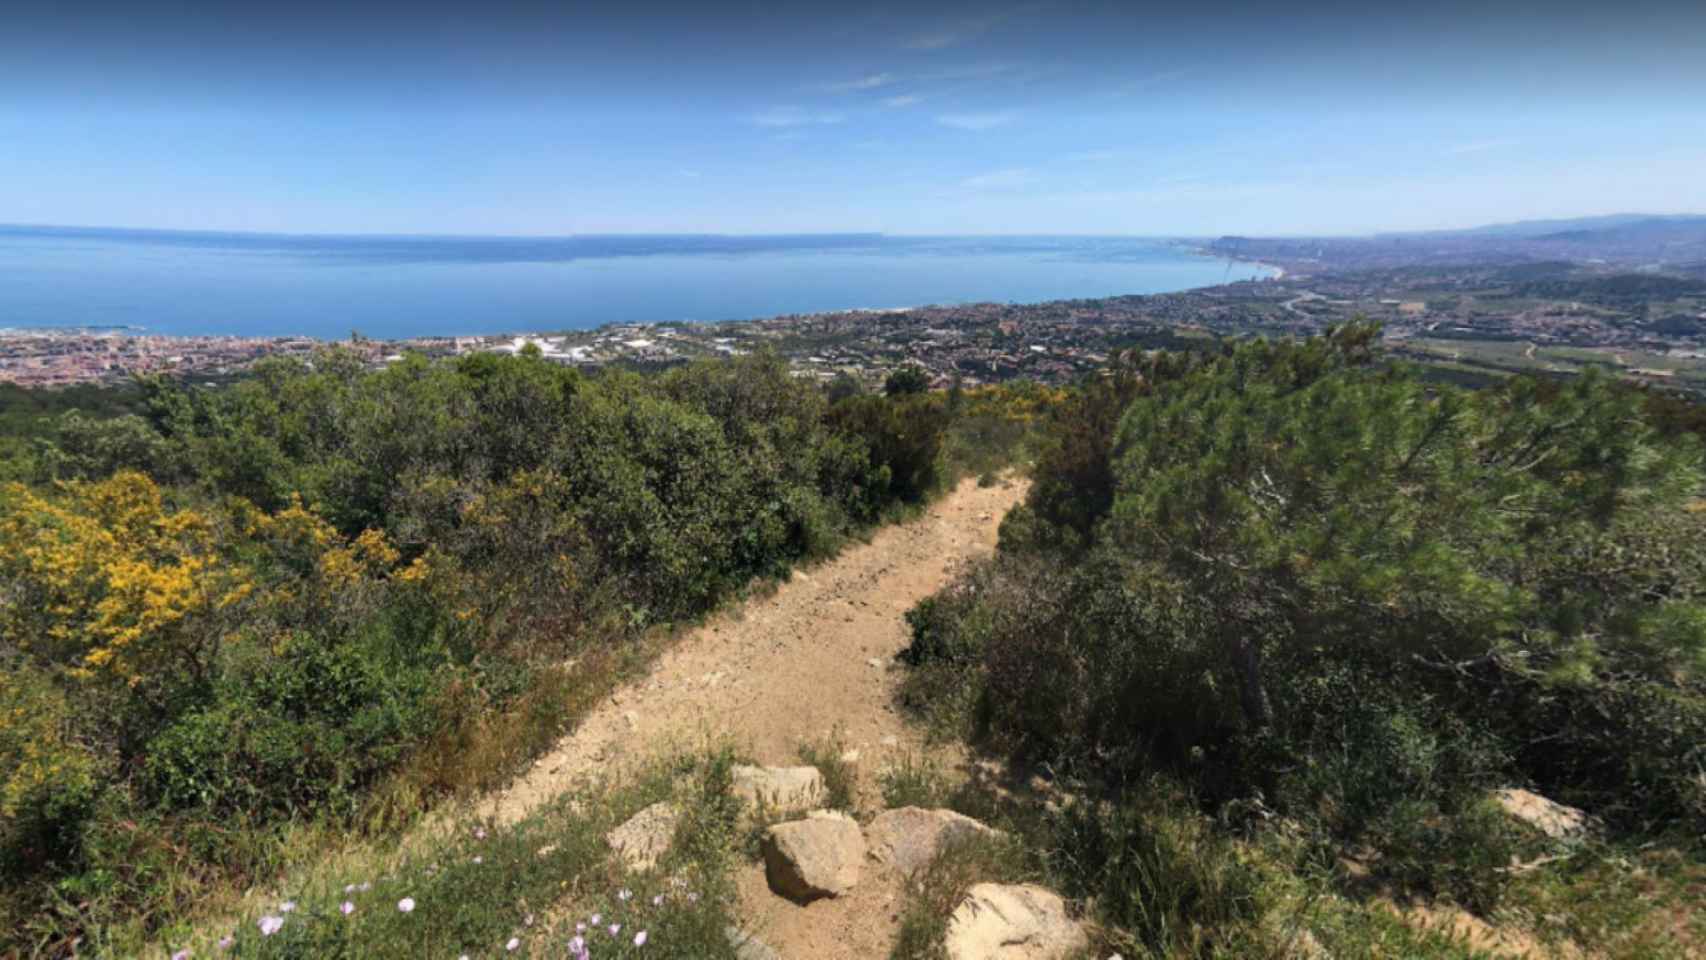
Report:
[[949,917],[949,960],[1056,960],[1088,945],[1066,902],[1034,885],[978,883]]

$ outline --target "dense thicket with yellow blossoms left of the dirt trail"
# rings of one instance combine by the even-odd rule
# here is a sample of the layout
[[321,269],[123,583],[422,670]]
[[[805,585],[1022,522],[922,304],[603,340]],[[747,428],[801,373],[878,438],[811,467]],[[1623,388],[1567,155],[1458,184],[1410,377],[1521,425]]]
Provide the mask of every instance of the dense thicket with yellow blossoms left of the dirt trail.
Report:
[[1005,457],[1054,399],[914,380],[328,350],[38,421],[0,489],[0,951],[99,946],[264,880],[292,825],[496,783],[648,627],[921,503],[945,448]]

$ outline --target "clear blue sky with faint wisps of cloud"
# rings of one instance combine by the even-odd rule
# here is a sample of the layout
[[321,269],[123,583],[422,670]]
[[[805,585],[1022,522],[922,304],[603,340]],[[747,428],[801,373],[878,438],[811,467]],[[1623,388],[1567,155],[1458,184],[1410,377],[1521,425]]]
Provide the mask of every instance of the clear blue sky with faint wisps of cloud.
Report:
[[85,3],[0,222],[1343,234],[1706,211],[1706,3]]

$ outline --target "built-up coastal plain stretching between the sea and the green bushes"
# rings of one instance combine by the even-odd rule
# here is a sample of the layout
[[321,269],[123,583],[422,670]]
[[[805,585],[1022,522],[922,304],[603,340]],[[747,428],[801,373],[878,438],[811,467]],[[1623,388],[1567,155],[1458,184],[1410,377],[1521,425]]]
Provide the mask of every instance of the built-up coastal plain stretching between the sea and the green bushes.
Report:
[[[612,324],[592,331],[341,341],[370,365],[411,353],[537,353],[577,367],[667,367],[771,350],[802,377],[880,380],[901,365],[938,384],[1082,377],[1123,348],[1218,336],[1307,336],[1368,319],[1399,353],[1431,363],[1506,355],[1544,367],[1604,358],[1636,379],[1706,379],[1706,281],[1568,268],[1455,266],[1286,273],[1179,293],[843,310],[742,322]],[[154,336],[121,329],[0,331],[0,382],[55,387],[167,373],[220,379],[312,338]],[[1559,355],[1559,351],[1578,351]],[[1585,351],[1585,353],[1583,353]],[[1597,351],[1597,353],[1595,353]],[[1496,365],[1496,363],[1494,363]],[[1520,363],[1518,363],[1520,365]]]

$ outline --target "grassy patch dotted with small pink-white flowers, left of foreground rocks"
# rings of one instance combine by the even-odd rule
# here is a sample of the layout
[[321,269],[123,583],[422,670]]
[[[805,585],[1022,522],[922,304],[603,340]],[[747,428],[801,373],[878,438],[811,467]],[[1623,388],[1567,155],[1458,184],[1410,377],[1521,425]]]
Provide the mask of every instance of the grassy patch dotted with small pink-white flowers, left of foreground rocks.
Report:
[[[570,941],[582,936],[594,957],[732,958],[730,766],[727,750],[686,757],[623,789],[565,796],[512,827],[459,824],[433,849],[401,863],[292,887],[287,900],[225,933],[225,946],[203,934],[194,953],[404,958],[449,950],[572,958]],[[667,870],[612,868],[604,832],[667,798],[672,774],[689,784],[674,801],[693,815]],[[647,936],[636,943],[641,931]]]

